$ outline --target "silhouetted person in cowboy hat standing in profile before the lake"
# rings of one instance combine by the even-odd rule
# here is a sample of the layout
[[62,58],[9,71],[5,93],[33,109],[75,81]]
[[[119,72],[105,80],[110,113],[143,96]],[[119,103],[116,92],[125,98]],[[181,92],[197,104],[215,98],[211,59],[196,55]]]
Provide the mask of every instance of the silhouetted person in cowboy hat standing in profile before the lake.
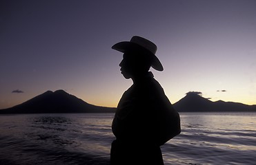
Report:
[[160,146],[181,131],[179,113],[164,94],[164,89],[148,72],[150,67],[163,71],[155,53],[157,46],[133,36],[112,46],[124,53],[119,64],[121,74],[132,78],[133,85],[124,92],[112,121],[111,164],[164,164]]

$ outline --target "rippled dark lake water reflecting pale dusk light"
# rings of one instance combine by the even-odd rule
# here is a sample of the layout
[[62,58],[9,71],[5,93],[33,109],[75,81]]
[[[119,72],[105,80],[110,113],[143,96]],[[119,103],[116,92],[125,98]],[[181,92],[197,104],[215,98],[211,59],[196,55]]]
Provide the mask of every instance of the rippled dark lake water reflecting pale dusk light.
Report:
[[[0,164],[109,164],[113,113],[0,115]],[[170,164],[256,164],[256,113],[180,113]]]

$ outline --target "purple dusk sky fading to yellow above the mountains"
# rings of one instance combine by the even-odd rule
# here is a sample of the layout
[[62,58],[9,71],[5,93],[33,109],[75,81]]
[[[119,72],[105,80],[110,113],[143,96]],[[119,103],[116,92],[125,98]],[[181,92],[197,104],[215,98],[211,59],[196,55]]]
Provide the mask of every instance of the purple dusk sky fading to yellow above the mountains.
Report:
[[116,107],[130,85],[111,46],[143,36],[175,103],[188,91],[256,104],[256,1],[1,1],[0,109],[64,89]]

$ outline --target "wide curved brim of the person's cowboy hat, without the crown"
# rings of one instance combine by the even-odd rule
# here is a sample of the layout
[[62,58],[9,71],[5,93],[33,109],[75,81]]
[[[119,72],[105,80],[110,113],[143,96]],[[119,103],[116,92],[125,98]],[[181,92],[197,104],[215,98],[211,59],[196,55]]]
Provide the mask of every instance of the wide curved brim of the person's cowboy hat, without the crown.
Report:
[[163,65],[161,65],[161,62],[159,61],[157,56],[155,56],[155,54],[152,54],[152,52],[150,52],[149,50],[146,50],[144,47],[141,47],[137,43],[123,41],[123,42],[116,43],[115,45],[113,45],[112,49],[117,50],[122,53],[125,53],[126,51],[129,51],[129,50],[142,50],[142,51],[146,52],[146,54],[150,55],[150,58],[152,59],[151,60],[152,68],[156,69],[157,71],[164,70],[164,67],[163,67]]

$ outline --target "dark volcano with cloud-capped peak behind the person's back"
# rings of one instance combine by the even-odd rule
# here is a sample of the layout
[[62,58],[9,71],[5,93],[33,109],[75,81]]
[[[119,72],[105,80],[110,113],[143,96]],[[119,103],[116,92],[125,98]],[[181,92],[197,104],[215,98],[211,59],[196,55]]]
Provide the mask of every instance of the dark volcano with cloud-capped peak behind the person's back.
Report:
[[213,102],[199,96],[198,92],[188,92],[184,98],[173,104],[179,112],[200,111],[256,111],[256,105],[247,105],[237,102]]

